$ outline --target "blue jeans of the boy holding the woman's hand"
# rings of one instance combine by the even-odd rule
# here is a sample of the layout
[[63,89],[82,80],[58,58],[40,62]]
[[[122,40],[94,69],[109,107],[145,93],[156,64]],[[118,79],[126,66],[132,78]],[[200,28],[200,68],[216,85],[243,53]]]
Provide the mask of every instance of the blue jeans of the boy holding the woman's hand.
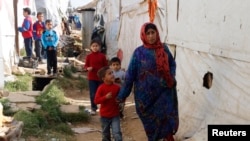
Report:
[[120,127],[120,117],[104,118],[101,117],[102,124],[102,141],[111,141],[110,129],[115,141],[122,141],[122,133]]

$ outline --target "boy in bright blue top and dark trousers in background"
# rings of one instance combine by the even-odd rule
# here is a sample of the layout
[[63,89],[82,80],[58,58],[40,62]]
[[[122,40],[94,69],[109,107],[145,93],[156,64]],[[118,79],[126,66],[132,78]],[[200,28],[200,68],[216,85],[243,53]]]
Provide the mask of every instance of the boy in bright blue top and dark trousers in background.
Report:
[[52,29],[53,23],[51,20],[45,21],[46,30],[42,34],[42,44],[44,50],[47,53],[47,74],[51,75],[51,69],[53,69],[53,75],[57,74],[57,45],[59,37],[55,30]]

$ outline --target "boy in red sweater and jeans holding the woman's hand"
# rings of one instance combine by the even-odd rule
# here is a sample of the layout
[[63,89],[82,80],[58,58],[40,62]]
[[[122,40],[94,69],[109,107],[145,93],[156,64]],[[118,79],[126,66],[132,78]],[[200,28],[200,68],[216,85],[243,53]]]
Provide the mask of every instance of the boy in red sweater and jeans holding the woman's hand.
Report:
[[122,141],[119,105],[116,102],[120,86],[114,83],[115,76],[108,66],[101,68],[98,71],[98,76],[104,82],[98,87],[95,96],[95,103],[101,104],[102,140],[111,141],[111,128],[114,140]]

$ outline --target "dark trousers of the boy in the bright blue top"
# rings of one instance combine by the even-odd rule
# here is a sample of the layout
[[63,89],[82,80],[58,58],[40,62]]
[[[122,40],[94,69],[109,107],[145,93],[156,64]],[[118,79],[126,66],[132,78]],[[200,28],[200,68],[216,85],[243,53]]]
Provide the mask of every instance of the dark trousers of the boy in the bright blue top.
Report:
[[51,69],[53,69],[53,74],[57,72],[57,51],[47,49],[47,73],[51,74]]

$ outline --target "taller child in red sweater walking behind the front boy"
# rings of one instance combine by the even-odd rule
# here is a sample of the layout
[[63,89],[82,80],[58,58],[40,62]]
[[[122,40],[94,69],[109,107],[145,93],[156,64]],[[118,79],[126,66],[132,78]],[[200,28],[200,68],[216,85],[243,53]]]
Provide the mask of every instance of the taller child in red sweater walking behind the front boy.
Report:
[[89,92],[91,102],[91,115],[96,114],[98,109],[94,103],[95,93],[98,86],[101,84],[100,79],[97,76],[97,71],[104,66],[108,66],[106,56],[100,52],[101,41],[99,39],[93,39],[90,43],[91,53],[86,56],[84,69],[88,71]]

